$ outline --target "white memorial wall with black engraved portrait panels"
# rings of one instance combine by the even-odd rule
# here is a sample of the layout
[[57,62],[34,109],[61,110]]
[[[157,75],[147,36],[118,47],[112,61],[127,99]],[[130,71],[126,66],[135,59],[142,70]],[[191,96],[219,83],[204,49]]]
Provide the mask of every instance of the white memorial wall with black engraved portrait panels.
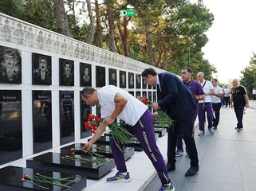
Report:
[[140,76],[149,67],[0,14],[0,166],[90,136],[84,123],[99,106],[82,102],[85,86],[156,100]]

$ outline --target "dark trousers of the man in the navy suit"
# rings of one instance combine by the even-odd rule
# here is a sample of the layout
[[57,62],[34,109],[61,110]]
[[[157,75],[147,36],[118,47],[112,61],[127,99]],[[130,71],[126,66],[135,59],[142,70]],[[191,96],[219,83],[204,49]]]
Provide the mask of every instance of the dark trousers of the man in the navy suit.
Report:
[[175,148],[178,132],[183,135],[186,144],[187,154],[191,159],[191,166],[199,166],[199,158],[193,137],[194,113],[191,112],[191,118],[187,120],[174,119],[174,123],[168,129],[167,138],[167,158],[170,165],[175,165]]

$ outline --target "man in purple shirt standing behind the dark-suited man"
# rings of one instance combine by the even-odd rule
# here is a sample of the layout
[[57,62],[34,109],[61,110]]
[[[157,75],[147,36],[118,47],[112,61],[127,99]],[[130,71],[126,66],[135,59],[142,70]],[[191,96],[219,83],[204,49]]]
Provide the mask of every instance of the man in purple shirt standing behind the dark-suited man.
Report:
[[[196,99],[202,100],[204,99],[204,92],[201,84],[199,84],[197,81],[191,79],[192,76],[192,70],[191,68],[184,67],[181,70],[181,78],[183,80],[183,84],[186,85],[186,87],[191,91],[191,93],[195,96]],[[197,116],[197,109],[195,110],[195,118]],[[195,131],[195,127],[193,129],[193,133]],[[179,157],[183,154],[183,141],[182,141],[182,134],[179,132],[177,137],[177,150],[176,150],[176,157]],[[187,155],[189,156],[189,154]]]

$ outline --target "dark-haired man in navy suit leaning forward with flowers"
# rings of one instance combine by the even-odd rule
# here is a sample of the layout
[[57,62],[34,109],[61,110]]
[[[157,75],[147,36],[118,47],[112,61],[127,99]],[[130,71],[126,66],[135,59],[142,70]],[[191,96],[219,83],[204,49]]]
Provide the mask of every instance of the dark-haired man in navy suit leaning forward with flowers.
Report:
[[192,135],[195,109],[197,101],[189,89],[181,80],[170,72],[157,74],[153,68],[147,68],[142,72],[145,83],[151,86],[157,85],[158,103],[152,103],[154,110],[162,109],[174,120],[168,129],[167,140],[167,169],[175,170],[175,147],[177,134],[183,134],[183,140],[187,146],[187,152],[191,159],[191,167],[185,176],[192,176],[199,171],[199,158]]

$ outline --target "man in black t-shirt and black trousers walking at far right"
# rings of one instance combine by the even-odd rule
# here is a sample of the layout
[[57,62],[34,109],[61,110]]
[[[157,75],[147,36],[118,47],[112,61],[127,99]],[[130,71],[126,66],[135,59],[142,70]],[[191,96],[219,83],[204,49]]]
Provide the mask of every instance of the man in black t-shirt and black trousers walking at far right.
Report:
[[243,129],[242,117],[245,107],[249,107],[249,97],[246,92],[246,88],[242,85],[239,85],[238,79],[233,79],[231,84],[233,88],[231,89],[230,94],[230,107],[233,109],[234,113],[238,120],[237,127],[234,129],[241,131]]

